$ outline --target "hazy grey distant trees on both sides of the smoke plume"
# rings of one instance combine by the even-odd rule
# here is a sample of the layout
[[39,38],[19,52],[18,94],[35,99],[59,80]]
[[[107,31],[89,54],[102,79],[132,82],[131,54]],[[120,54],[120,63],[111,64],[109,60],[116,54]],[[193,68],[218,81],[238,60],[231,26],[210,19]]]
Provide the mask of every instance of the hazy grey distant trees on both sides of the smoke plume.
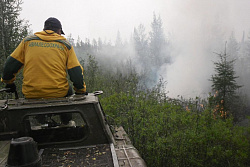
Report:
[[[85,40],[80,38],[74,40],[71,35],[68,36],[68,40],[74,45],[77,56],[80,59],[86,60],[89,55],[92,55],[99,62],[101,68],[116,69],[116,67],[121,67],[120,70],[122,71],[124,65],[121,64],[131,61],[135,70],[139,74],[144,75],[141,79],[144,79],[145,86],[151,88],[157,84],[161,75],[168,75],[167,70],[164,73],[162,71],[160,73],[160,70],[163,66],[168,67],[175,63],[175,56],[181,54],[179,53],[180,50],[178,50],[181,47],[177,46],[178,43],[175,41],[174,34],[164,34],[164,27],[160,16],[157,17],[153,14],[151,29],[148,31],[146,31],[143,24],[140,24],[134,28],[134,32],[128,41],[123,41],[118,31],[114,44],[111,41],[102,40],[101,38],[98,40],[93,39],[92,41],[87,38]],[[217,61],[216,59],[211,59],[211,55],[214,55],[215,52],[224,52],[226,50],[228,59],[235,60],[234,70],[235,74],[239,76],[236,81],[239,85],[242,85],[239,93],[242,93],[241,95],[244,98],[249,98],[250,95],[250,79],[248,77],[250,75],[249,33],[245,35],[243,32],[242,39],[240,40],[236,39],[234,32],[228,37],[219,28],[210,35],[212,36],[210,39],[207,39],[209,37],[204,34],[204,43],[207,46],[203,46],[204,55],[200,55],[206,57],[205,59],[208,61]],[[206,67],[200,70],[206,70]],[[210,78],[207,79],[209,80]],[[249,99],[246,101],[249,102]]]

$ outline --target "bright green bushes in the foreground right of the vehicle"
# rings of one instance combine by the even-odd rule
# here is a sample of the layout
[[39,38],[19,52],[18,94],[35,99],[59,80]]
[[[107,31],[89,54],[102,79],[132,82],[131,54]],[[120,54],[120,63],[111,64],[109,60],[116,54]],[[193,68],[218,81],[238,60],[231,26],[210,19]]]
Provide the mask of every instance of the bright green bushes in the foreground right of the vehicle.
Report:
[[102,99],[148,166],[248,166],[250,128],[214,119],[209,109],[185,109],[176,100],[158,103],[152,96],[121,92]]

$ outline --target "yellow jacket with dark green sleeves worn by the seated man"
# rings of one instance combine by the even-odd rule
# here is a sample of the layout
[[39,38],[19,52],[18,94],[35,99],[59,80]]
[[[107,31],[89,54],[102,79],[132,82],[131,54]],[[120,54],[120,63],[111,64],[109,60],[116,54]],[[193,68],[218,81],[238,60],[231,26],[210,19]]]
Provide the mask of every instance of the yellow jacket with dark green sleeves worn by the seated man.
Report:
[[51,30],[37,32],[19,44],[6,60],[1,81],[13,83],[22,67],[26,98],[64,97],[69,89],[67,72],[75,91],[86,92],[83,68],[74,48]]

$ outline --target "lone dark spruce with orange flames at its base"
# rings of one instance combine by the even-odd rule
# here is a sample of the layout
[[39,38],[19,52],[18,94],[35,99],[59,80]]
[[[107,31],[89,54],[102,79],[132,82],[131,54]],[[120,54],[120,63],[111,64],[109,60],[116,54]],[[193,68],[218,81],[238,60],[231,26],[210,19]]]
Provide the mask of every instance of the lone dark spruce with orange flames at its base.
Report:
[[226,53],[216,53],[219,61],[214,62],[215,74],[212,75],[212,90],[215,92],[213,101],[215,104],[214,113],[226,118],[228,114],[232,114],[235,118],[237,113],[235,106],[239,96],[236,93],[241,86],[237,84],[236,72],[234,70],[235,59],[229,60]]

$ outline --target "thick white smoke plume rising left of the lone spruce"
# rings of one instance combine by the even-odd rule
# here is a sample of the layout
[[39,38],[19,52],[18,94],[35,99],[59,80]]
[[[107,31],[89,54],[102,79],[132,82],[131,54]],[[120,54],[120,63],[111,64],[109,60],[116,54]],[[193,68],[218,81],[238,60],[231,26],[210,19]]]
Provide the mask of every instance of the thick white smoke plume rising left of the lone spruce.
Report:
[[233,31],[239,40],[242,32],[250,28],[250,1],[177,0],[169,5],[173,17],[166,10],[162,18],[165,29],[173,34],[174,61],[162,66],[158,73],[167,80],[170,97],[206,97],[211,91],[213,61],[217,60],[214,52],[224,52]]

